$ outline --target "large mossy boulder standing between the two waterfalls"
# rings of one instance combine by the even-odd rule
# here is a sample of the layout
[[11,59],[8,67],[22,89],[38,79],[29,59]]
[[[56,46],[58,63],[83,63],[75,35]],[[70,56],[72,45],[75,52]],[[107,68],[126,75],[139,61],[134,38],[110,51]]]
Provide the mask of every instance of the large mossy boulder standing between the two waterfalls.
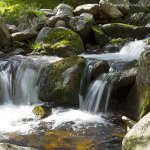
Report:
[[64,58],[51,64],[41,84],[40,99],[57,106],[78,106],[79,89],[85,59]]

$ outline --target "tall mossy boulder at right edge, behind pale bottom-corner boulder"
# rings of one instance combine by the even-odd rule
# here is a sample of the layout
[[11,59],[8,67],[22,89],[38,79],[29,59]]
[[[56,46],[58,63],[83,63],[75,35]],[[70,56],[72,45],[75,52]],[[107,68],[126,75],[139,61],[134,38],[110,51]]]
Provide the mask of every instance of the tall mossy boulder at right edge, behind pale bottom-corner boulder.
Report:
[[143,52],[137,73],[140,93],[140,116],[150,112],[150,50]]

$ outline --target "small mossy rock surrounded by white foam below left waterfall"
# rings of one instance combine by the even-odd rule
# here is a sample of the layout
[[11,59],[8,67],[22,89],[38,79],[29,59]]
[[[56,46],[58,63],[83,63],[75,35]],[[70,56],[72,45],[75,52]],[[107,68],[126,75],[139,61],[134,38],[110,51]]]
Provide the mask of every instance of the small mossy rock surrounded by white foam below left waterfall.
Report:
[[51,108],[46,105],[35,106],[32,112],[37,119],[43,119],[52,114]]

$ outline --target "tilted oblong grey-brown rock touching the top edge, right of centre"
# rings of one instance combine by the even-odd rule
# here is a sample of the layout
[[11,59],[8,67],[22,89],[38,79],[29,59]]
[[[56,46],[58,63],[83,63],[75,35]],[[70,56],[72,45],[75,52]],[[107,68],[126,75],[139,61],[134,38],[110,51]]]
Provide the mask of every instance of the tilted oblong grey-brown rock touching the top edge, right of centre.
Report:
[[110,3],[108,0],[100,0],[99,5],[102,9],[102,11],[109,17],[115,19],[122,17],[121,11],[112,3]]

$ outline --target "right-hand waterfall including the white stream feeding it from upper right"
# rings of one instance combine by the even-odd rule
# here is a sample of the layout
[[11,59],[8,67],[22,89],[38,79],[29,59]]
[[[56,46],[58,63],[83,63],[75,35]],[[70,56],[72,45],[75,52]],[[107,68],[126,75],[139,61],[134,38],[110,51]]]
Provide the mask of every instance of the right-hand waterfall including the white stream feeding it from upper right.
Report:
[[[95,81],[89,84],[86,96],[82,96],[83,101],[82,104],[80,104],[80,109],[91,113],[97,113],[99,110],[102,110],[106,113],[108,111],[114,80],[118,71],[122,71],[122,67],[120,66],[123,66],[123,62],[126,63],[135,59],[138,60],[146,46],[146,41],[140,40],[126,44],[119,53],[82,55],[90,61],[107,60],[110,64],[110,72],[108,74],[100,74]],[[91,70],[91,68],[89,69]]]

